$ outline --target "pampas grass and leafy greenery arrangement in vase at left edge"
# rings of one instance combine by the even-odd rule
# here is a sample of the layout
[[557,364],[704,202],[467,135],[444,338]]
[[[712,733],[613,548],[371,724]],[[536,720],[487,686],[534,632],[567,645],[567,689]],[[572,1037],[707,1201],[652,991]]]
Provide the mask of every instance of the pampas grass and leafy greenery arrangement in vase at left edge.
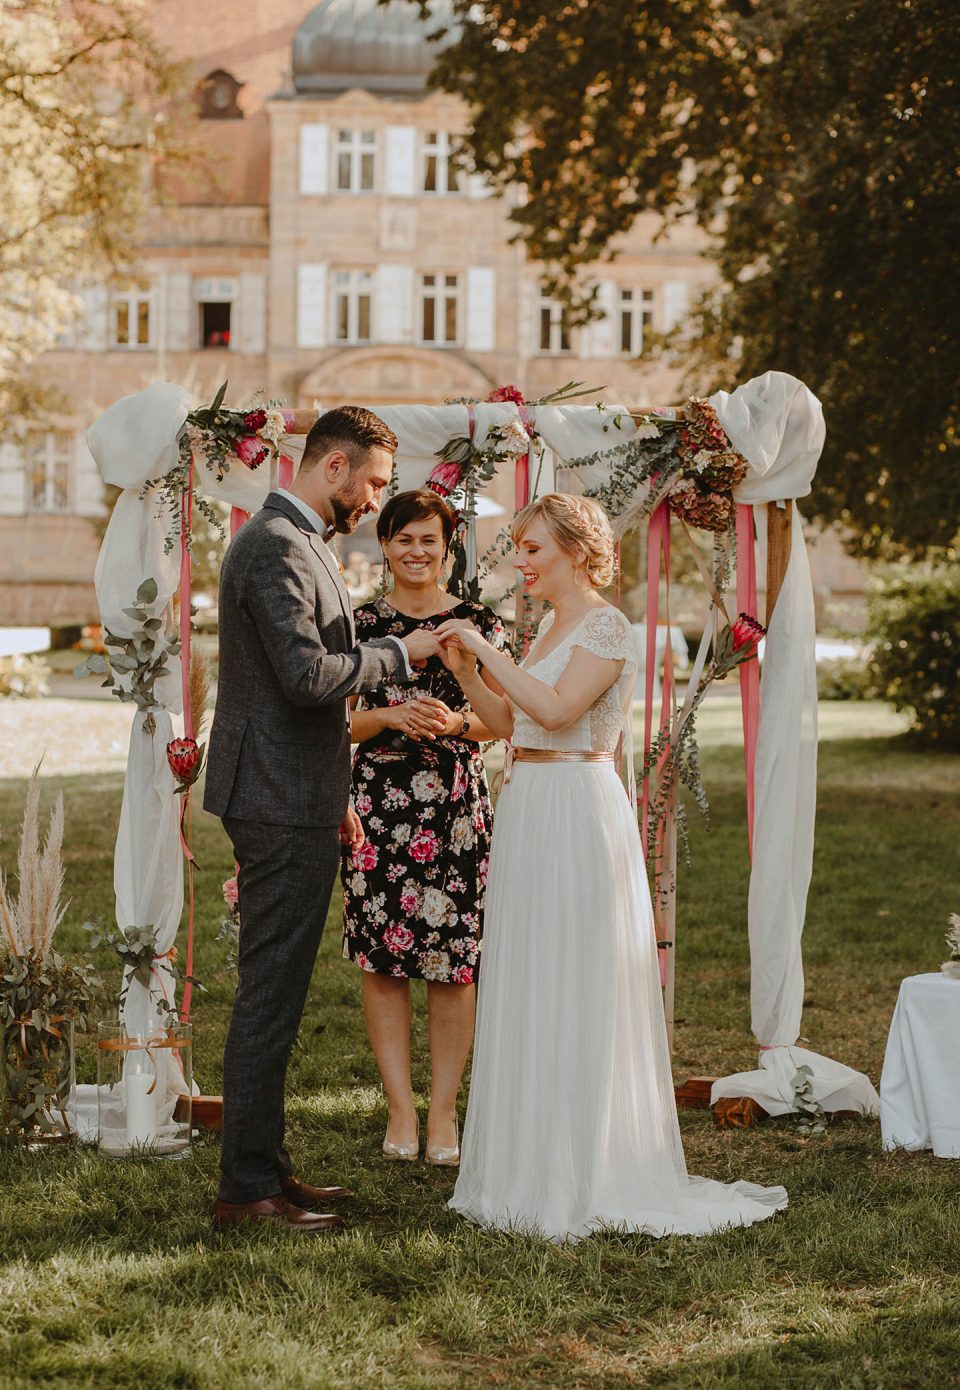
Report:
[[71,1137],[67,1104],[74,1084],[74,1029],[86,1029],[103,981],[86,965],[68,965],[53,938],[67,905],[64,802],[57,795],[40,841],[40,770],[33,769],[19,835],[19,894],[11,899],[0,872],[0,1036],[3,1133],[29,1144]]

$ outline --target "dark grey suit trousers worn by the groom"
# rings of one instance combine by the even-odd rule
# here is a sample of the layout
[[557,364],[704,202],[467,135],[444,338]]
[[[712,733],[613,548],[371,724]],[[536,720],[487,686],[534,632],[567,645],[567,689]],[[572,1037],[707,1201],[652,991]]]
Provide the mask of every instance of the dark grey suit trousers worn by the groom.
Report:
[[283,1090],[340,858],[336,828],[224,817],[240,865],[240,981],[224,1051],[220,1195],[256,1202],[292,1172]]

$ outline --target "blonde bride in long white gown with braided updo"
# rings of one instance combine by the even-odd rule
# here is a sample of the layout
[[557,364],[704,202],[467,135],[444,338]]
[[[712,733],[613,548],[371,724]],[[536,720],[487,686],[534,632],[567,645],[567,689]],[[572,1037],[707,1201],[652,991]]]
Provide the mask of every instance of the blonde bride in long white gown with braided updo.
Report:
[[749,1226],[786,1205],[782,1187],[690,1177],[684,1162],[650,894],[614,762],[636,655],[597,592],[613,577],[610,523],[589,499],[549,493],[511,535],[525,592],[553,607],[522,666],[470,623],[438,628],[465,699],[513,741],[450,1205],[552,1240]]

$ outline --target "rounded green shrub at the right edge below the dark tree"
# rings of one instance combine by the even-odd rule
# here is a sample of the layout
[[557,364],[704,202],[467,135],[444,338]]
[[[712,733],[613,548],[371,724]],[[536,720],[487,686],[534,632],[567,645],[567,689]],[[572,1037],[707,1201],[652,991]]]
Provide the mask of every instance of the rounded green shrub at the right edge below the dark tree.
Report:
[[960,564],[891,569],[870,594],[867,635],[878,694],[913,712],[924,742],[960,748]]

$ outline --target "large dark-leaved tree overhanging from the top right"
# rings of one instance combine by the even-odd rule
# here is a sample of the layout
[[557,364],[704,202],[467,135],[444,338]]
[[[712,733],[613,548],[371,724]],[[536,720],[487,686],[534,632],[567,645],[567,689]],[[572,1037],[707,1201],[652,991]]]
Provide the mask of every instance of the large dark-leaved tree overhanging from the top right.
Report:
[[[424,0],[429,14],[431,0]],[[960,518],[960,28],[952,0],[453,0],[432,81],[470,107],[574,318],[642,210],[714,235],[681,352],[700,386],[775,367],[824,402],[811,498],[863,553]],[[507,100],[504,100],[507,93]],[[739,356],[735,364],[731,354]]]

